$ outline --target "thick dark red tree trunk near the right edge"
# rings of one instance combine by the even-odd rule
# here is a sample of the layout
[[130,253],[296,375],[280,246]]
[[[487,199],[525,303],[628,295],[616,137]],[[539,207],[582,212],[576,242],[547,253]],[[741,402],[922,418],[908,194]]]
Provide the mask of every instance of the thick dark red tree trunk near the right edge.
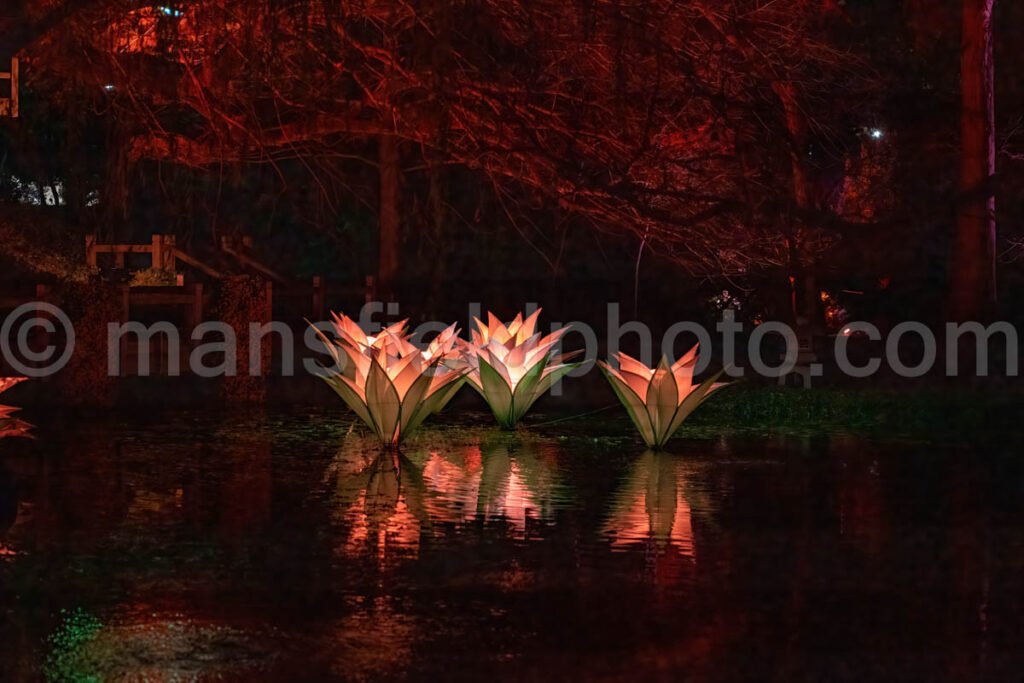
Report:
[[995,96],[992,6],[963,0],[961,178],[949,313],[979,319],[995,302]]

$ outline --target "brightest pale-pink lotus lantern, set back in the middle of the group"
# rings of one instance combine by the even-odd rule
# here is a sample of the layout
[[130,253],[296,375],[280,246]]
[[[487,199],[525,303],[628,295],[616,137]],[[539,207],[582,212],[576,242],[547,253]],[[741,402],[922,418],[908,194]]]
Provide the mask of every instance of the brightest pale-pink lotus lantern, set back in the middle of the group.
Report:
[[514,428],[538,398],[580,365],[563,362],[574,353],[554,354],[568,328],[547,337],[535,332],[540,314],[538,309],[523,319],[520,313],[506,326],[487,313],[487,324],[476,318],[472,340],[463,342],[466,377],[503,429]]

